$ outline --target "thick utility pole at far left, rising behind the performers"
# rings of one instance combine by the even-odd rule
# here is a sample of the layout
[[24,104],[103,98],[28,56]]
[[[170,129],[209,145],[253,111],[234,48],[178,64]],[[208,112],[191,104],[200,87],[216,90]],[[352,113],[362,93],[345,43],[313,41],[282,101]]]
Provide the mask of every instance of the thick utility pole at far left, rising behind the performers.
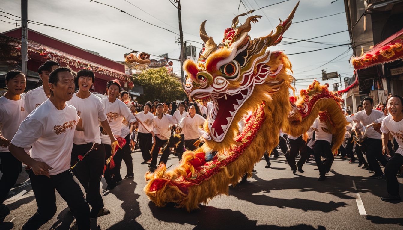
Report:
[[28,0],[21,0],[21,71],[27,76]]

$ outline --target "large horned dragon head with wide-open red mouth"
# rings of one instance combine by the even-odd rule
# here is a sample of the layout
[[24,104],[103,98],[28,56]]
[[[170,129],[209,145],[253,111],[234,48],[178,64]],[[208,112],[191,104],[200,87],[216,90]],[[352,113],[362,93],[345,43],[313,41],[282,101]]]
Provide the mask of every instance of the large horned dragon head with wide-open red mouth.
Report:
[[206,141],[222,143],[226,138],[232,139],[234,134],[227,133],[237,129],[237,122],[244,115],[240,113],[247,112],[241,108],[247,107],[250,102],[248,98],[262,86],[266,87],[265,95],[276,93],[287,80],[278,76],[283,68],[280,62],[270,64],[271,56],[278,56],[281,52],[266,49],[280,43],[283,33],[291,25],[298,4],[286,20],[280,20],[274,31],[255,39],[251,39],[248,32],[251,23],[256,23],[261,16],[248,17],[242,25],[238,21],[240,16],[250,12],[233,19],[232,26],[224,31],[224,38],[218,45],[207,35],[204,29],[206,21],[202,23],[200,37],[205,42],[202,54],[197,63],[186,60],[183,69],[187,72],[187,93],[197,99],[210,98],[214,104],[205,125]]

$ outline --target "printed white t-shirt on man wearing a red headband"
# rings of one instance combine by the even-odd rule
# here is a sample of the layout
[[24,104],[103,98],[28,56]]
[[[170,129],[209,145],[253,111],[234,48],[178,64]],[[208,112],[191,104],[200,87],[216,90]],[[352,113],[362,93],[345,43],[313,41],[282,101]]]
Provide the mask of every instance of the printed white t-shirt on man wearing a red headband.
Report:
[[[108,97],[101,99],[106,113],[106,120],[109,122],[110,129],[115,137],[122,136],[122,122],[123,118],[129,121],[129,124],[136,121],[136,118],[131,113],[130,109],[126,106],[125,102],[116,99],[113,103],[109,102]],[[125,138],[125,137],[123,137]],[[101,133],[102,144],[110,145],[110,138],[108,135]]]

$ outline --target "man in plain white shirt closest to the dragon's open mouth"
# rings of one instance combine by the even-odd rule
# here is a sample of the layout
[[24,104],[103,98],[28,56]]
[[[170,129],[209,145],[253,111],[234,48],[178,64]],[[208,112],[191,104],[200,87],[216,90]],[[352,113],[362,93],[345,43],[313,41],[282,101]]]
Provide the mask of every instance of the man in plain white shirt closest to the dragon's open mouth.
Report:
[[196,114],[196,108],[194,105],[188,108],[189,115],[182,118],[178,127],[182,128],[183,135],[185,136],[185,148],[193,151],[199,147],[195,145],[196,141],[199,141],[200,136],[203,134],[200,132],[199,127],[206,122],[203,116]]

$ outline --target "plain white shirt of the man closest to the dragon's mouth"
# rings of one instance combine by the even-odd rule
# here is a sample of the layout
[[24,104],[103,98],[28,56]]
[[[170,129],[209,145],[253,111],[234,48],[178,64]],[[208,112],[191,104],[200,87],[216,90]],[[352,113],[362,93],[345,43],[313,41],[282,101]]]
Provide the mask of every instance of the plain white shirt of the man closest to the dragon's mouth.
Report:
[[203,133],[200,132],[199,126],[204,124],[205,121],[206,119],[199,114],[195,114],[193,118],[190,115],[182,118],[181,122],[179,122],[179,127],[182,128],[185,140],[198,139],[202,136]]

